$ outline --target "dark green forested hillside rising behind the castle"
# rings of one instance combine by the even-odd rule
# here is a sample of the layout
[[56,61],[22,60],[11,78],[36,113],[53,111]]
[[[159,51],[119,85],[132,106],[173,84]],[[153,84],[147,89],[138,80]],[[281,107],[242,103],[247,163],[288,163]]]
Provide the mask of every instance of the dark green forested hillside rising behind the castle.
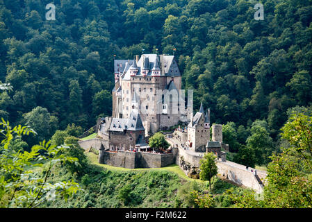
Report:
[[142,49],[175,53],[195,108],[203,101],[211,121],[233,122],[224,132],[231,151],[253,133],[272,147],[287,110],[311,105],[311,0],[261,0],[263,21],[254,19],[257,1],[52,2],[55,21],[45,19],[51,0],[0,0],[0,80],[13,85],[0,115],[47,139],[110,115],[114,55]]

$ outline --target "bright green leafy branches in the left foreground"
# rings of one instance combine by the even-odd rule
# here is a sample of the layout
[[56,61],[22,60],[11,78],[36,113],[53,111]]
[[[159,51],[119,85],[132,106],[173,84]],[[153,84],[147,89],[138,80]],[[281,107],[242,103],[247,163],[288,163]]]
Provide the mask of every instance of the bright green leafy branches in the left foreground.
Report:
[[[51,198],[67,200],[79,191],[79,185],[74,181],[48,183],[47,178],[51,167],[58,162],[75,162],[74,157],[60,154],[66,149],[63,146],[53,146],[51,142],[43,141],[31,148],[30,152],[15,151],[11,142],[22,135],[35,133],[31,128],[15,126],[1,120],[2,139],[0,150],[0,207],[37,207]],[[44,155],[40,153],[44,152]],[[42,161],[47,170],[34,173],[33,167],[42,167]]]

